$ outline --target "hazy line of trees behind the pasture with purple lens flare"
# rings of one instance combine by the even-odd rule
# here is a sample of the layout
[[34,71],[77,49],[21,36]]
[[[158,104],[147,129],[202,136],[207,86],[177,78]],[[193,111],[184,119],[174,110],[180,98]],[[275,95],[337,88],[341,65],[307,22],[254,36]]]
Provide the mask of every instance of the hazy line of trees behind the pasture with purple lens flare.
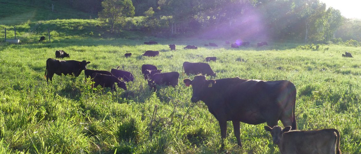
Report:
[[[359,22],[327,8],[319,0],[59,0],[95,13],[110,31],[121,29],[125,17],[144,16],[135,30],[157,36],[194,35],[215,38],[297,39],[337,41],[360,39]],[[352,29],[343,24],[352,25]],[[355,26],[356,25],[356,26]],[[359,30],[358,30],[359,31]],[[347,32],[347,33],[344,33]]]

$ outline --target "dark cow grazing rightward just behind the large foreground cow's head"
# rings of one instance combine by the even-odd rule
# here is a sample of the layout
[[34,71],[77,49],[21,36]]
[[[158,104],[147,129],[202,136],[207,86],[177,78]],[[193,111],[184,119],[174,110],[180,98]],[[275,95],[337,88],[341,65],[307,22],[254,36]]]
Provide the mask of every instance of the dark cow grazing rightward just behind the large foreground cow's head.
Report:
[[186,73],[189,74],[203,74],[203,75],[211,75],[216,76],[216,73],[213,72],[213,70],[210,68],[208,63],[203,62],[184,62],[183,63],[183,74]]

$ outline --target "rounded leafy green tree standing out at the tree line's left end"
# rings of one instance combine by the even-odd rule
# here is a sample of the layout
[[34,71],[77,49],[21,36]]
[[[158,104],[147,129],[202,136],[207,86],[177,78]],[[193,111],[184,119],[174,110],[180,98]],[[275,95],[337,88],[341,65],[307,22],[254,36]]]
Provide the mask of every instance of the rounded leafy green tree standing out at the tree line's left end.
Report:
[[103,10],[98,16],[110,25],[110,32],[114,31],[114,26],[122,25],[125,17],[134,16],[134,6],[131,0],[105,0],[101,3]]

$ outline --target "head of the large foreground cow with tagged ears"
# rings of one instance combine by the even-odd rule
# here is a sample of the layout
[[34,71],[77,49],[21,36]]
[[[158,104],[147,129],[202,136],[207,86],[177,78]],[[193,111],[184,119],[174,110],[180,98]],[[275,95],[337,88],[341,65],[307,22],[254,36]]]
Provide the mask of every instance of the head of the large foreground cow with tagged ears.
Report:
[[183,82],[187,87],[192,85],[193,94],[191,101],[195,103],[201,99],[202,92],[207,88],[212,87],[212,85],[216,83],[216,80],[206,80],[205,76],[198,75],[195,76],[193,80],[184,79]]

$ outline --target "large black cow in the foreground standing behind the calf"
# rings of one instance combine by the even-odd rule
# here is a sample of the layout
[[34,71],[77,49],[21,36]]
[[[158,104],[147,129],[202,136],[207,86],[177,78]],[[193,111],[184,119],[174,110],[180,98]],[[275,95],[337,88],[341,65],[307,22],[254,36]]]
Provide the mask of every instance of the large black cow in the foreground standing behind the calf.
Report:
[[192,85],[193,103],[201,100],[218,120],[221,128],[222,147],[227,133],[227,121],[232,121],[238,145],[239,123],[277,126],[281,120],[284,126],[296,129],[295,104],[296,87],[287,80],[262,81],[239,78],[206,80],[205,76],[184,79],[186,86]]

